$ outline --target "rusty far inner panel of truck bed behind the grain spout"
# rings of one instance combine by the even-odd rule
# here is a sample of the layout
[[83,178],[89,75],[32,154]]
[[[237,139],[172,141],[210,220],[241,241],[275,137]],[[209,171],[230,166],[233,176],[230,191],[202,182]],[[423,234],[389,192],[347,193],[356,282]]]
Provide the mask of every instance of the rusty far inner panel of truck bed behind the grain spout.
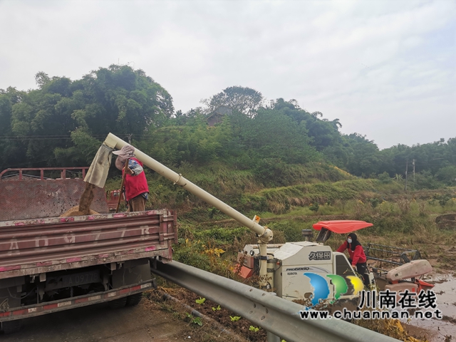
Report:
[[[81,179],[0,181],[0,221],[57,217],[79,204]],[[108,212],[103,189],[95,187],[90,209]]]

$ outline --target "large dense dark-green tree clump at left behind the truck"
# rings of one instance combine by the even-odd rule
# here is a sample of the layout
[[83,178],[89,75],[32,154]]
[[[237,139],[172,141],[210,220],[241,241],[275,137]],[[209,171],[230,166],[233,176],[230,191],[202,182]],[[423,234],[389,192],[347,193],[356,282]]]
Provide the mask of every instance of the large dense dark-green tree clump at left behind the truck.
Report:
[[1,141],[20,136],[1,142],[0,152],[19,155],[21,166],[86,164],[109,132],[140,139],[174,111],[170,94],[129,66],[99,68],[77,81],[39,72],[36,83],[36,90],[0,92]]

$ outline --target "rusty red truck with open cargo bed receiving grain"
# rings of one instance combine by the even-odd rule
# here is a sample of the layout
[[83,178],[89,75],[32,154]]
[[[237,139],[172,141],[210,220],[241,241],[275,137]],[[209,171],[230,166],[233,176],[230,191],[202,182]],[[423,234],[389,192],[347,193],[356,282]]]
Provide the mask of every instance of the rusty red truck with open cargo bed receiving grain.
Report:
[[[60,177],[45,177],[46,172]],[[105,192],[98,189],[92,209],[100,214],[58,217],[78,204],[85,172],[79,167],[0,173],[4,333],[19,330],[21,318],[105,301],[113,308],[136,305],[142,291],[155,286],[150,266],[172,259],[177,219],[171,210],[108,213]]]

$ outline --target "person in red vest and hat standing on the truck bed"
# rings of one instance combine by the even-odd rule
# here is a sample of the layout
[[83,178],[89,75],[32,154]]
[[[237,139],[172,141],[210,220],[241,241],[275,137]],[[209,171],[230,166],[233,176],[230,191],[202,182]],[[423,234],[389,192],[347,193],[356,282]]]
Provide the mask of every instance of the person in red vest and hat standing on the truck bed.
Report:
[[[135,147],[125,145],[121,150],[114,151],[117,155],[115,167],[125,175],[125,199],[128,202],[129,212],[142,212],[149,195],[149,187],[145,178],[142,162],[135,158]],[[128,160],[128,165],[126,165]]]

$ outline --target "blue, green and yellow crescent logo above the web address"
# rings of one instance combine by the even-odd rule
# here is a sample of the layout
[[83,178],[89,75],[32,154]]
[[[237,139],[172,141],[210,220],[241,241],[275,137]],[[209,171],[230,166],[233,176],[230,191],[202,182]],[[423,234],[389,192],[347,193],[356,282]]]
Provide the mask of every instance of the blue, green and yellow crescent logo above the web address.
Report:
[[[339,299],[342,294],[346,294],[348,291],[348,284],[346,279],[343,276],[339,276],[337,274],[325,274],[326,277],[331,279],[334,289],[334,299]],[[312,305],[316,305],[320,302],[320,300],[328,299],[329,296],[329,286],[328,281],[324,276],[316,273],[306,272],[304,276],[310,279],[311,286],[313,288],[313,293],[311,297]],[[359,279],[357,276],[347,276],[350,280],[351,285],[353,286],[353,295],[358,294],[359,291],[364,289],[363,281]]]

